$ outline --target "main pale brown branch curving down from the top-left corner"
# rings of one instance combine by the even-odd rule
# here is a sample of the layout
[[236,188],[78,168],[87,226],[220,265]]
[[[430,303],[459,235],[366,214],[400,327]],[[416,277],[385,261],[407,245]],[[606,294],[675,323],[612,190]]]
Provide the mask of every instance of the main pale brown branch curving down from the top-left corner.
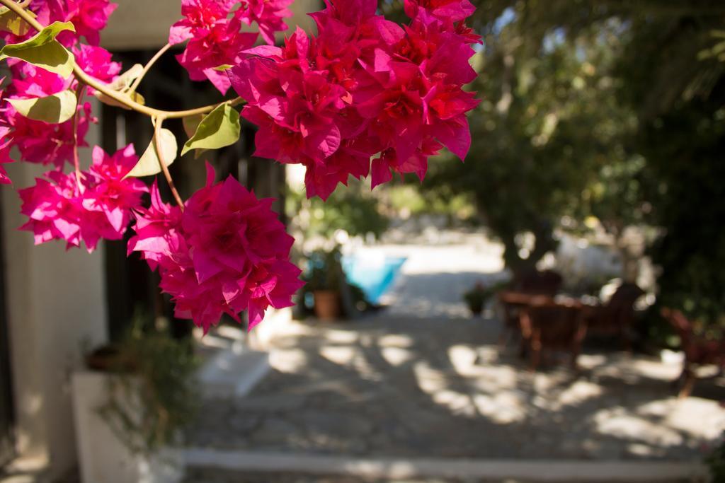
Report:
[[[34,29],[40,31],[43,30],[43,25],[40,24],[36,19],[33,18],[32,15],[30,15],[25,9],[20,7],[20,4],[15,3],[12,0],[0,0],[0,4],[4,5],[5,7],[8,7],[13,12],[15,12],[19,17],[22,18],[22,20],[25,20],[25,22],[28,23],[31,27]],[[179,119],[181,117],[189,117],[189,116],[195,116],[197,114],[208,114],[212,112],[214,109],[216,109],[221,104],[229,103],[231,106],[236,106],[239,104],[244,103],[244,100],[242,98],[235,98],[233,101],[223,101],[218,102],[217,104],[211,104],[210,106],[203,106],[203,107],[197,107],[196,109],[187,109],[185,111],[164,111],[162,109],[154,109],[149,106],[144,106],[143,104],[138,104],[138,102],[133,101],[128,96],[125,96],[123,93],[119,93],[117,91],[114,91],[113,89],[108,88],[107,85],[104,83],[101,83],[99,80],[94,79],[90,75],[86,74],[86,72],[83,72],[83,70],[78,67],[78,64],[73,65],[73,73],[75,74],[75,77],[78,78],[78,80],[86,85],[88,85],[91,88],[96,89],[96,91],[100,91],[101,93],[104,93],[109,98],[112,98],[113,100],[119,102],[120,104],[123,104],[124,106],[127,106],[129,109],[133,109],[136,112],[141,112],[141,114],[146,114],[146,116],[149,117],[157,117],[157,118],[164,118],[164,119]]]

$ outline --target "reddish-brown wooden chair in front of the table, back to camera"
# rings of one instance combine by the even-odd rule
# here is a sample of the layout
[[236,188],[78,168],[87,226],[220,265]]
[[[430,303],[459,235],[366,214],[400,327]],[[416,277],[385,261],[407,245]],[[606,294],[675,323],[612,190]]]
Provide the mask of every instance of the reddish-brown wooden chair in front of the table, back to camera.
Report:
[[586,311],[587,307],[577,301],[559,302],[542,296],[521,308],[521,336],[532,371],[541,363],[544,351],[556,350],[568,352],[569,363],[576,369],[587,335]]

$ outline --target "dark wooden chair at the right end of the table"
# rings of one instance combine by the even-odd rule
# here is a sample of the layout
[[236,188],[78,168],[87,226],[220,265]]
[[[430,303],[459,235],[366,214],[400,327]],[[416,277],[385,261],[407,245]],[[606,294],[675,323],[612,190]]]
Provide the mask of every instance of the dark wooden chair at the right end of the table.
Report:
[[589,313],[590,332],[617,335],[626,350],[631,350],[630,328],[634,323],[634,303],[645,291],[634,283],[620,285],[606,305]]

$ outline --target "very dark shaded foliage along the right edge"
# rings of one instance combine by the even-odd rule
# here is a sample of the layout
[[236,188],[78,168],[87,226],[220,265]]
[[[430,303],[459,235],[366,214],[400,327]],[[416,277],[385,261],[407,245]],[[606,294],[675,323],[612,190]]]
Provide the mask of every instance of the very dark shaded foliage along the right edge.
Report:
[[[697,3],[697,2],[694,2]],[[647,159],[658,303],[725,324],[725,4],[632,22],[619,61]],[[718,37],[720,35],[720,37]],[[719,47],[718,47],[719,46]]]

